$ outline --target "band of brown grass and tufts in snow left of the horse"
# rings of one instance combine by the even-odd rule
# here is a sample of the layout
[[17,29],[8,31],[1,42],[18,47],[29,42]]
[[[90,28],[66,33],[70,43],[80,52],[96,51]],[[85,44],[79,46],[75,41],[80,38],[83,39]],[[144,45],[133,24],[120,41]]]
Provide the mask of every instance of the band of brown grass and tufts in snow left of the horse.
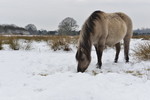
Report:
[[[25,43],[24,45],[20,45],[19,40],[23,40]],[[30,50],[32,41],[40,42],[45,41],[47,42],[48,46],[54,51],[57,50],[64,50],[70,51],[69,44],[77,44],[78,36],[50,36],[50,35],[1,35],[0,36],[0,50],[3,49],[3,44],[8,44],[12,50]]]

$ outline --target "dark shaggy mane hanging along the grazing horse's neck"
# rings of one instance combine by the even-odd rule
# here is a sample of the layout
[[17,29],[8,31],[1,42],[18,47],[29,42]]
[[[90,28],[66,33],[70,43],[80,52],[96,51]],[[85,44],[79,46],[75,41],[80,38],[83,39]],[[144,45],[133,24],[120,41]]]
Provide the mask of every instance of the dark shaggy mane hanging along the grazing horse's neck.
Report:
[[79,46],[83,48],[88,57],[90,57],[90,51],[92,47],[91,36],[94,34],[95,21],[101,20],[100,14],[102,11],[93,12],[86,20],[80,31],[80,43]]

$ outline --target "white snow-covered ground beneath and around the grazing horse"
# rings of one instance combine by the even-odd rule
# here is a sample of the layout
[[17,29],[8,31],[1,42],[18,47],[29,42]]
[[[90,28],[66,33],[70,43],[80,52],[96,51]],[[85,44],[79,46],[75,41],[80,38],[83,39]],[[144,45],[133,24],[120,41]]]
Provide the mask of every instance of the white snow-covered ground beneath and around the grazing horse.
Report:
[[[32,50],[0,51],[0,100],[149,100],[150,61],[138,61],[132,49],[143,40],[131,41],[130,63],[124,63],[123,49],[117,64],[115,50],[97,57],[85,73],[76,72],[76,48],[52,51],[45,42],[32,43]],[[5,46],[7,47],[7,46]]]

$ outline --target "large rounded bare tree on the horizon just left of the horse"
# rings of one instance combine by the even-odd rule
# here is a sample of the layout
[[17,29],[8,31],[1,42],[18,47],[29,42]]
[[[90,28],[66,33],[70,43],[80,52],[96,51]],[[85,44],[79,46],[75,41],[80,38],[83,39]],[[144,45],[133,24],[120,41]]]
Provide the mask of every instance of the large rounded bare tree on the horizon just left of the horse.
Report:
[[74,35],[78,29],[76,20],[71,17],[67,17],[58,26],[59,35]]

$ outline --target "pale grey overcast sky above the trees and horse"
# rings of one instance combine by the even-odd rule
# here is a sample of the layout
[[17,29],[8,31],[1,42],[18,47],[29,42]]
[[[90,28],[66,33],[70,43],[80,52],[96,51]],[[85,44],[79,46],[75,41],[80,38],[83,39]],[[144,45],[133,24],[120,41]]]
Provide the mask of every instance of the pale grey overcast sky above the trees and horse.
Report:
[[150,28],[150,0],[0,0],[0,24],[57,30],[64,18],[72,17],[81,27],[95,10],[124,12],[134,29]]

